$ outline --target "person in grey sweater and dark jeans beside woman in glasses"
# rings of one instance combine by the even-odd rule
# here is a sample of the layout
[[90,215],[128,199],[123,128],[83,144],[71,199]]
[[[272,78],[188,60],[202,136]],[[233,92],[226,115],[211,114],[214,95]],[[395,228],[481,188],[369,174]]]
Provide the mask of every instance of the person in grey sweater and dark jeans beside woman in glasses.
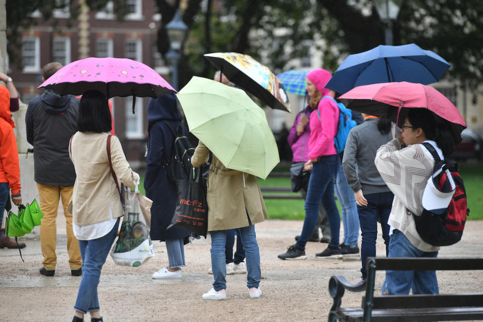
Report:
[[[389,225],[394,194],[376,169],[376,151],[392,138],[392,122],[362,113],[364,122],[349,133],[342,159],[347,182],[354,191],[362,231],[362,278],[366,280],[366,259],[376,256],[377,222],[381,223],[382,238],[389,247]],[[354,162],[356,161],[356,162]],[[357,164],[357,169],[356,169]]]

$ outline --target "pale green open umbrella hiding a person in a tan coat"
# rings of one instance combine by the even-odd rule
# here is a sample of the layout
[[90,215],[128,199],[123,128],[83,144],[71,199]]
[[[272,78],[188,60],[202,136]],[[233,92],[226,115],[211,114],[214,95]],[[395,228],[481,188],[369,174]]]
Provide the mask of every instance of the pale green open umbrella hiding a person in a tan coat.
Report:
[[265,112],[244,91],[193,77],[176,95],[190,132],[227,168],[265,179],[280,162]]

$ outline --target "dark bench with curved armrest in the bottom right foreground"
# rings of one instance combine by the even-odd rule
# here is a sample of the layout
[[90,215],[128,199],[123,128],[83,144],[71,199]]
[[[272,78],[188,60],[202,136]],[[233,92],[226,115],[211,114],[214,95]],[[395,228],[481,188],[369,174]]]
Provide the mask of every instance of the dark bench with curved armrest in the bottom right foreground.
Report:
[[[343,276],[332,276],[333,298],[329,322],[339,321],[448,321],[483,320],[483,293],[438,295],[374,295],[376,271],[483,270],[479,258],[375,258],[367,259],[366,283],[356,287]],[[481,281],[475,281],[481,283]],[[341,307],[344,290],[366,291],[361,307]]]

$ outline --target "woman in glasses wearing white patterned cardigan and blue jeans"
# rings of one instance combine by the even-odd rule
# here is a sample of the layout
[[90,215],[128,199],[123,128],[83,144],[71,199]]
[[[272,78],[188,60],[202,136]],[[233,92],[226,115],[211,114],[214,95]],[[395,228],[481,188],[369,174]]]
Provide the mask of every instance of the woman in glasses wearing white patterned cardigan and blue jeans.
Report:
[[[447,121],[437,122],[428,109],[411,108],[401,128],[396,139],[377,150],[375,158],[377,170],[394,194],[388,257],[437,257],[439,247],[421,238],[412,215],[423,212],[423,192],[435,164],[422,143],[431,144],[441,160],[449,157],[454,152],[451,127]],[[438,294],[436,272],[386,271],[383,294],[409,294],[411,288],[412,294]]]

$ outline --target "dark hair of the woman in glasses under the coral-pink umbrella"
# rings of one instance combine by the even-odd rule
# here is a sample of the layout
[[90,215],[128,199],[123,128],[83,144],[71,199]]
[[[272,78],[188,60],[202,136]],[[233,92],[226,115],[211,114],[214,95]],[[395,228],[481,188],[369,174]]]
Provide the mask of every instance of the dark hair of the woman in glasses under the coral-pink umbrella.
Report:
[[413,127],[422,128],[426,139],[436,142],[445,158],[453,154],[454,140],[451,135],[451,124],[448,121],[436,122],[433,112],[427,108],[410,108],[407,118]]

